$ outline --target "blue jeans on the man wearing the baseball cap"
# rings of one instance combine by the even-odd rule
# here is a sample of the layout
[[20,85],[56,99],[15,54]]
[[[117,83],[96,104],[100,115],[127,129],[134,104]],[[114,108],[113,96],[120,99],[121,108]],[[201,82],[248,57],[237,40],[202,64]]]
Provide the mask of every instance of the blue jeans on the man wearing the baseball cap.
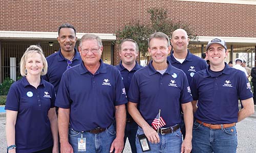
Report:
[[236,153],[237,145],[236,126],[216,130],[194,122],[192,152]]

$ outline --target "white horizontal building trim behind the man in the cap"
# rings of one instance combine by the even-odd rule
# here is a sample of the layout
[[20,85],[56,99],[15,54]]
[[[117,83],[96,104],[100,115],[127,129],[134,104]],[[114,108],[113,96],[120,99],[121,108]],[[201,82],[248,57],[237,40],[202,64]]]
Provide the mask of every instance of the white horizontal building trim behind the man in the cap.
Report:
[[[208,42],[214,36],[198,36],[200,42]],[[220,37],[226,41],[226,43],[250,43],[256,44],[255,37]]]

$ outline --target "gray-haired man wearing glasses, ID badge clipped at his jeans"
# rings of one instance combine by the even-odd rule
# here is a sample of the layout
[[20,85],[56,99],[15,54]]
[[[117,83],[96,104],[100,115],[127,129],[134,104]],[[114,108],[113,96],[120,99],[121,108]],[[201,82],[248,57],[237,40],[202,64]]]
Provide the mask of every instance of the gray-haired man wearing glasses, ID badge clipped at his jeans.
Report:
[[55,104],[61,152],[121,152],[127,103],[121,74],[102,62],[98,36],[83,35],[78,50],[82,62],[63,73]]

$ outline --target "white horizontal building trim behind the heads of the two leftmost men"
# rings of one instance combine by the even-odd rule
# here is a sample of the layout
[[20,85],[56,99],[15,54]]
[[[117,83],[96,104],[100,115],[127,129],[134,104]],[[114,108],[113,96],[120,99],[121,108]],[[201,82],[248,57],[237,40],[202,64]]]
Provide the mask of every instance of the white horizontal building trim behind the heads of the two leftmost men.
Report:
[[[86,33],[76,33],[78,39]],[[98,35],[102,40],[116,40],[115,34],[101,34],[91,33]],[[0,39],[56,39],[57,32],[31,32],[31,31],[0,31]]]

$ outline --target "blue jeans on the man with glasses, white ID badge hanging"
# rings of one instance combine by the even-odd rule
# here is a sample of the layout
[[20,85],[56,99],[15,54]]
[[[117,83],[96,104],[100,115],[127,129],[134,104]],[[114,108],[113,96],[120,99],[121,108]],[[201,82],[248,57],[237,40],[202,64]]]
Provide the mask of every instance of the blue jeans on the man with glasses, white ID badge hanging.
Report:
[[86,151],[79,151],[79,153],[110,152],[111,144],[116,138],[116,132],[113,124],[99,134],[92,134],[90,132],[75,132],[70,128],[69,143],[73,147],[74,152],[78,152],[78,138],[81,138],[81,134],[83,135],[83,138],[86,138]]

